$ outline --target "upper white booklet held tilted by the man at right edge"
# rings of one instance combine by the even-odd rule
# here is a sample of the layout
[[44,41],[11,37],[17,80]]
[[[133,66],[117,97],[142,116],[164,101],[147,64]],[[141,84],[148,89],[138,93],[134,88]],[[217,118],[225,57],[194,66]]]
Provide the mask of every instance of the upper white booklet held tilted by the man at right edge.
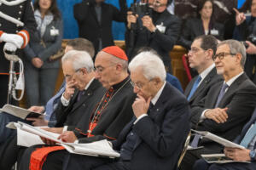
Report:
[[213,133],[209,133],[207,131],[196,131],[196,130],[193,130],[193,129],[191,131],[200,134],[203,138],[211,139],[214,142],[217,142],[218,144],[222,144],[226,147],[244,149],[244,147],[241,146],[240,144],[236,144],[234,142],[231,142],[230,140],[223,139],[223,138],[221,138],[221,137],[219,137],[219,136],[217,136]]

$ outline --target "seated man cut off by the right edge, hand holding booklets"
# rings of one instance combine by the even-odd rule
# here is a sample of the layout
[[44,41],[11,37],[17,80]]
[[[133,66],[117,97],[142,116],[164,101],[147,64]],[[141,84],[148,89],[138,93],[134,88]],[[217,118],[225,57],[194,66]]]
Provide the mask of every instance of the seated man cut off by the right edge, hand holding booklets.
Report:
[[[203,159],[196,161],[195,170],[254,170],[256,167],[256,110],[253,112],[251,120],[242,128],[241,134],[236,137],[235,143],[245,146],[246,149],[225,148],[224,154],[234,161],[251,161],[251,163],[226,163],[223,165],[208,164]],[[245,142],[247,143],[244,145]]]

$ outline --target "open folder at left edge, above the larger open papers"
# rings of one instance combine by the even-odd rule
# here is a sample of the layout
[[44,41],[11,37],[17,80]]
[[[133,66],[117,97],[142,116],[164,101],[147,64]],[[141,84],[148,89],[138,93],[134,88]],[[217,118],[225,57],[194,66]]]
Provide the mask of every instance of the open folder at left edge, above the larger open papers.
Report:
[[10,115],[20,117],[21,119],[26,119],[27,117],[38,117],[43,116],[44,114],[34,112],[34,111],[28,111],[26,109],[23,109],[21,107],[15,106],[15,105],[3,105],[3,108],[0,109],[0,111],[6,112]]

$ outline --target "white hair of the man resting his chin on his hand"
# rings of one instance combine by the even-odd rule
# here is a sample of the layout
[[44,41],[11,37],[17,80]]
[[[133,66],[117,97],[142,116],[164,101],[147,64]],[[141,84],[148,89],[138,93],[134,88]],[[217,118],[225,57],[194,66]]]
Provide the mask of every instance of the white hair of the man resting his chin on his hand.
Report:
[[157,54],[150,51],[145,51],[137,54],[129,64],[129,70],[134,71],[138,66],[143,69],[143,76],[148,80],[152,80],[155,77],[160,77],[160,80],[164,82],[166,80],[166,68],[165,65]]

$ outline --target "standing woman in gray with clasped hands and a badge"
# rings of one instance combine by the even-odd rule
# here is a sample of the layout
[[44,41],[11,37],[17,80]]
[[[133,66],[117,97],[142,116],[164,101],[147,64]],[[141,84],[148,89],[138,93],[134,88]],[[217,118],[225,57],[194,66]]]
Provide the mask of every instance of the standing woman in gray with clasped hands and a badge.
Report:
[[37,31],[25,48],[25,78],[28,105],[45,105],[54,94],[60,63],[49,57],[61,49],[62,20],[56,0],[34,3]]

